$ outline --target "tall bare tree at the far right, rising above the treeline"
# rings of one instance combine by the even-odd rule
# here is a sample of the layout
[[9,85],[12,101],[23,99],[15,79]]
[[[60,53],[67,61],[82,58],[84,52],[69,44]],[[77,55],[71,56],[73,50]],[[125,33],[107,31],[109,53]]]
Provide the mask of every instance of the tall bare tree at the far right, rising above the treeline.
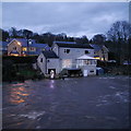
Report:
[[128,59],[126,56],[129,53],[129,38],[131,37],[131,25],[127,21],[118,21],[112,24],[107,32],[108,40],[112,41],[116,59],[118,63],[122,63]]

